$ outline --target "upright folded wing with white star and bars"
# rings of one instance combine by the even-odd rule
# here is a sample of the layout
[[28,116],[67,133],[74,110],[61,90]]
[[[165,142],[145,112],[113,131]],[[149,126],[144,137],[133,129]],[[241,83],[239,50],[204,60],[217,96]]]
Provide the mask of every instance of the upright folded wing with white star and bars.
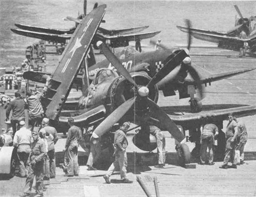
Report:
[[[59,84],[56,93],[51,98],[46,109],[46,115],[50,119],[56,119],[61,111],[62,103],[66,101],[69,90],[82,61],[85,58],[93,37],[100,25],[105,12],[106,5],[101,5],[92,10],[83,18],[73,33],[71,40],[66,47],[59,65],[53,73],[51,84]],[[55,82],[56,81],[56,82]]]

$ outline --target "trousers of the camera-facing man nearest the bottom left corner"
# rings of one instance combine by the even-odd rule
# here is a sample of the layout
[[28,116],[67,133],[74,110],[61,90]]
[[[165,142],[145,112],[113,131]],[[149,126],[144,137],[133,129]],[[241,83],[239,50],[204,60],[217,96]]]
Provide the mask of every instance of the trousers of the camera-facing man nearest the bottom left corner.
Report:
[[36,176],[36,192],[37,194],[43,194],[44,187],[44,162],[40,161],[35,166],[30,165],[26,184],[24,187],[24,193],[30,193],[33,185],[34,177]]

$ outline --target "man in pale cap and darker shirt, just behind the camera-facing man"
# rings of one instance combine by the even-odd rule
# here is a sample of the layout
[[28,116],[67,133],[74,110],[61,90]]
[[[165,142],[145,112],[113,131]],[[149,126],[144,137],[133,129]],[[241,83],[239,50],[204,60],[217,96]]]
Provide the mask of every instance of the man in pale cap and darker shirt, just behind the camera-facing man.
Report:
[[[44,118],[42,121],[42,130],[46,132],[46,137],[47,143],[48,143],[48,157],[49,157],[49,162],[50,162],[50,179],[55,178],[55,170],[56,170],[56,164],[55,164],[55,147],[54,145],[58,141],[58,134],[57,131],[54,127],[49,125],[49,119]],[[52,137],[50,137],[52,136]]]

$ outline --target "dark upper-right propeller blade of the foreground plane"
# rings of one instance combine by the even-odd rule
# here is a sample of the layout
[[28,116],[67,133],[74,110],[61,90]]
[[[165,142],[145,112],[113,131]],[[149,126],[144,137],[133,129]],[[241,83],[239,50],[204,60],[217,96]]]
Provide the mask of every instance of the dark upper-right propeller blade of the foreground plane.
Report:
[[[165,65],[162,67],[162,69],[155,74],[155,76],[150,80],[147,87],[150,87],[151,85],[157,84],[159,81],[161,81],[166,75],[168,75],[170,72],[172,72],[176,66],[181,64],[181,60],[184,60],[186,57],[188,57],[187,53],[184,50],[180,50],[177,54],[173,53],[171,54],[165,61]],[[178,72],[177,72],[178,74]],[[174,75],[174,78],[177,75]],[[174,79],[173,78],[173,79]],[[172,79],[169,79],[172,80]]]

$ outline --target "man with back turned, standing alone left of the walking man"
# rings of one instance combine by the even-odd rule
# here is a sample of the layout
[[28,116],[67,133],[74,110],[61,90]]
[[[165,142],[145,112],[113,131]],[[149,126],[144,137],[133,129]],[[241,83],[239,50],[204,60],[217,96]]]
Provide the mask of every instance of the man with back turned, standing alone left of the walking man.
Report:
[[75,126],[75,120],[73,118],[68,119],[69,131],[66,141],[65,151],[67,152],[69,162],[68,162],[68,177],[78,176],[79,165],[78,165],[78,144],[82,139],[81,130],[79,127]]

